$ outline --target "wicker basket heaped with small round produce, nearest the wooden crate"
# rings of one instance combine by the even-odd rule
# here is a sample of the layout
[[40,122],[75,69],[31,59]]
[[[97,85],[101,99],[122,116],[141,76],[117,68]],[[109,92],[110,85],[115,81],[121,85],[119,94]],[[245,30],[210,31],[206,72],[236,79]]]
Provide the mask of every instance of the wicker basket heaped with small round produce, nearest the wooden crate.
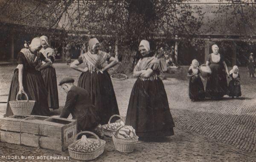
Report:
[[90,131],[81,131],[76,135],[76,138],[80,134],[90,134],[95,138],[87,138],[85,135],[81,139],[76,140],[68,146],[70,157],[79,160],[93,160],[96,159],[104,152],[106,141],[99,139],[99,137]]

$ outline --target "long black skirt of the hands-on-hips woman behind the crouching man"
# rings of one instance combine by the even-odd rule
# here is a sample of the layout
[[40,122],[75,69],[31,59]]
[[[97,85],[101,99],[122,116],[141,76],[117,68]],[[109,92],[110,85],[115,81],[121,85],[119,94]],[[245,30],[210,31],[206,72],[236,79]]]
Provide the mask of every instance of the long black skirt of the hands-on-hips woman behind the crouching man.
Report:
[[90,73],[90,71],[81,73],[78,87],[89,92],[93,105],[99,114],[100,124],[107,124],[109,118],[114,114],[119,115],[116,95],[108,72],[104,71],[103,74]]

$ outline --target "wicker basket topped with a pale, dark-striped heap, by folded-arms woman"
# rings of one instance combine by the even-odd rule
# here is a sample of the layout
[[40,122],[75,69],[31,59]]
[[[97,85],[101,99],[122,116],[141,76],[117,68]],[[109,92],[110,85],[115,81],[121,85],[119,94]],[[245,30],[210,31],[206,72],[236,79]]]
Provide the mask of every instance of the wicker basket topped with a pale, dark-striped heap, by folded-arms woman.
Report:
[[112,139],[117,151],[129,153],[134,151],[139,137],[132,126],[122,126],[112,136]]

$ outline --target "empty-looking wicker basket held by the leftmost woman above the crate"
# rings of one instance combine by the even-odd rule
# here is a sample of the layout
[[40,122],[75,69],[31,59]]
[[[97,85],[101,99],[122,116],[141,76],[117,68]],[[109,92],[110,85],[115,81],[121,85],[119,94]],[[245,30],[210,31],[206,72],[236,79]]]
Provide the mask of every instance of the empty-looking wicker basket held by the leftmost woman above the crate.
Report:
[[19,94],[16,95],[16,101],[9,101],[13,115],[30,115],[35,105],[34,100],[29,100],[26,92],[22,92],[26,95],[27,100],[18,101]]

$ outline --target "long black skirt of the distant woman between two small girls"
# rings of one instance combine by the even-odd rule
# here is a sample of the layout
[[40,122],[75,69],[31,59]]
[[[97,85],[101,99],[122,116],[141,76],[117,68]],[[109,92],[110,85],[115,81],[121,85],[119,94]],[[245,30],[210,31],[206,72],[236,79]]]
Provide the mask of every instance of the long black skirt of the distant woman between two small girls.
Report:
[[227,77],[223,67],[219,64],[210,64],[212,71],[206,88],[206,95],[209,98],[222,98],[227,95]]

